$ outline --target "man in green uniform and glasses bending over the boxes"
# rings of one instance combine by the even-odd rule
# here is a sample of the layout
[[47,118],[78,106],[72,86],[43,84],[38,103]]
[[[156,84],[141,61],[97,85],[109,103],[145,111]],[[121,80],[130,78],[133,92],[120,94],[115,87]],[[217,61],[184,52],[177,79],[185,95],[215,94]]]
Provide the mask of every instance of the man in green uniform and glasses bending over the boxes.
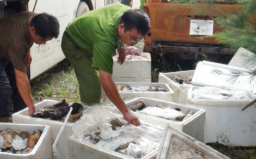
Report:
[[82,102],[100,103],[102,86],[124,119],[140,125],[115,87],[112,57],[118,49],[118,62],[122,64],[125,46],[137,44],[149,29],[149,18],[144,11],[123,4],[89,11],[68,24],[62,37],[62,50],[74,67]]

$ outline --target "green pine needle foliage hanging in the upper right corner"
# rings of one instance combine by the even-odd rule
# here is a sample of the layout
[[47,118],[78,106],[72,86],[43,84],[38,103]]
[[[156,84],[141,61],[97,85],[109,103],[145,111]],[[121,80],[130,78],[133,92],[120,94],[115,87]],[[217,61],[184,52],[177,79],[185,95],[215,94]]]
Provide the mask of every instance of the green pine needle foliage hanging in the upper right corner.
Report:
[[[248,0],[243,4],[243,8],[236,14],[230,15],[227,19],[218,17],[215,20],[225,31],[214,33],[216,40],[230,48],[246,48],[251,52],[256,52],[256,22],[251,16],[256,14],[256,1]],[[254,18],[255,19],[255,18]]]

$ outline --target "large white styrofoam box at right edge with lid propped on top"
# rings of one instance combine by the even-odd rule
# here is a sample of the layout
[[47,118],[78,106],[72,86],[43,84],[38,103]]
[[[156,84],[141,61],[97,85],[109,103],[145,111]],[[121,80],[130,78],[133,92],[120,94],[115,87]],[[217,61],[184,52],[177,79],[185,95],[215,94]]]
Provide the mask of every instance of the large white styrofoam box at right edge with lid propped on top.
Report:
[[239,76],[236,81],[230,82],[230,79],[227,80],[230,78],[228,75],[215,74],[213,70],[221,71],[222,74],[230,74],[230,71],[245,74],[248,72],[246,69],[214,62],[203,61],[197,64],[192,78],[192,84],[197,86],[189,88],[187,105],[206,110],[203,142],[215,142],[219,138],[225,140],[222,144],[254,147],[256,145],[256,104],[241,111],[253,99],[195,99],[192,92],[200,86],[213,86],[248,91],[253,95],[256,92],[256,82],[250,82],[247,76]]

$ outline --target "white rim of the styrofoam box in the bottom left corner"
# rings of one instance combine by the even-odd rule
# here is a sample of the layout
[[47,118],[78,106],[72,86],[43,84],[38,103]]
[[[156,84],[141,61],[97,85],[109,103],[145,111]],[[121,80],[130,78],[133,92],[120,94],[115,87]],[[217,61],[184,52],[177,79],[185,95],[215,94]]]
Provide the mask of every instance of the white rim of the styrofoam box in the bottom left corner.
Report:
[[[9,154],[9,153],[6,153],[6,152],[0,152],[0,158],[6,158],[5,156],[3,155],[9,155],[10,157],[13,157],[13,158],[19,158],[19,157],[28,157],[31,155],[34,155],[36,154],[37,150],[39,149],[40,147],[40,144],[42,143],[42,141],[44,140],[45,137],[47,138],[51,138],[49,136],[46,136],[46,134],[49,135],[49,129],[50,129],[50,126],[48,125],[35,125],[35,124],[15,124],[15,123],[0,123],[0,130],[6,130],[6,129],[15,129],[15,130],[18,130],[18,131],[28,131],[29,133],[33,132],[34,130],[36,129],[40,129],[43,131],[41,137],[39,138],[37,144],[34,146],[33,150],[28,153],[28,154]],[[50,141],[51,139],[49,139]],[[49,145],[51,146],[51,145]],[[49,153],[49,152],[47,152]],[[9,157],[7,157],[9,158]]]

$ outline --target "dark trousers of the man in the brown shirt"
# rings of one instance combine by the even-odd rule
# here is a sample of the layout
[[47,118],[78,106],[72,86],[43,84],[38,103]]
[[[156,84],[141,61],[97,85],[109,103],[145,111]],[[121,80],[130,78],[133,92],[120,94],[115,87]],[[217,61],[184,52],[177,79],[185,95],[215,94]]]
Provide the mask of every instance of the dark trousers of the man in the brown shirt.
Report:
[[10,116],[11,99],[14,105],[13,112],[27,107],[17,89],[13,64],[0,58],[0,117]]

